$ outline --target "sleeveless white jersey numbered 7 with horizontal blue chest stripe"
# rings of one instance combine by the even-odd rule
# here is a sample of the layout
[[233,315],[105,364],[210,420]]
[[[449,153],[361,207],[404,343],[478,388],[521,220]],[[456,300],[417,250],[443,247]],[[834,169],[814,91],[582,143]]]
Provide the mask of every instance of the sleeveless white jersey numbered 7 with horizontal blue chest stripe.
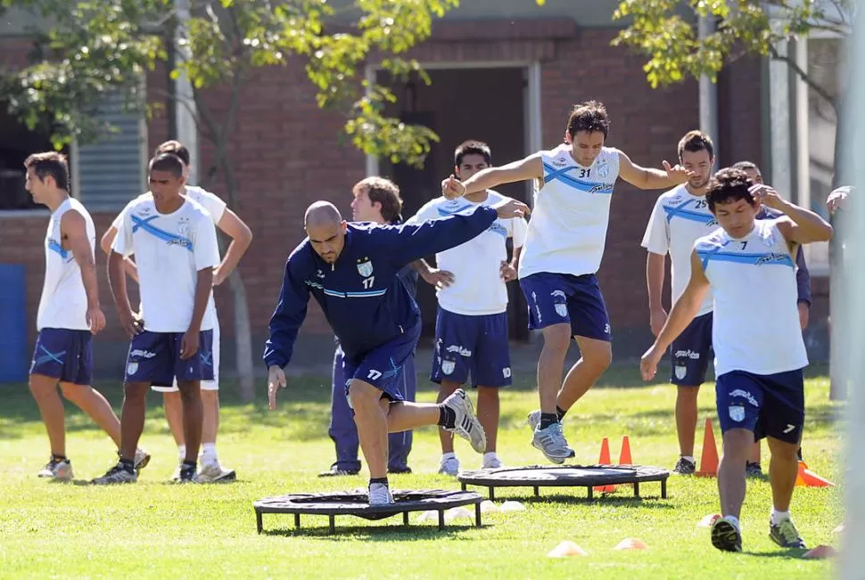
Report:
[[712,286],[715,375],[802,369],[808,354],[796,307],[795,257],[778,220],[756,220],[743,238],[722,229],[696,241]]

